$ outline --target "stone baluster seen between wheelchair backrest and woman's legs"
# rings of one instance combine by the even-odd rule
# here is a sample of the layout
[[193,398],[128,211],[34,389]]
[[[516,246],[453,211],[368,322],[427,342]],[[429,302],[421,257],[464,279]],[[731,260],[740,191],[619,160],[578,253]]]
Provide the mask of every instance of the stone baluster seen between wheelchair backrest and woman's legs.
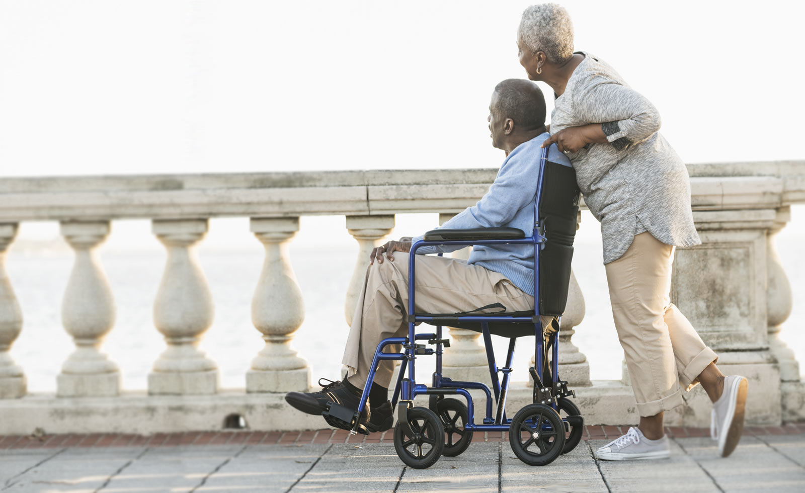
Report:
[[[581,213],[576,218],[576,230],[581,226]],[[568,305],[562,315],[561,329],[559,330],[559,378],[568,382],[568,387],[589,387],[590,363],[578,347],[571,341],[576,334],[574,327],[584,320],[584,295],[581,292],[576,274],[570,271],[570,284],[568,284]],[[535,365],[535,356],[531,356],[531,366]],[[534,380],[528,376],[529,387]]]

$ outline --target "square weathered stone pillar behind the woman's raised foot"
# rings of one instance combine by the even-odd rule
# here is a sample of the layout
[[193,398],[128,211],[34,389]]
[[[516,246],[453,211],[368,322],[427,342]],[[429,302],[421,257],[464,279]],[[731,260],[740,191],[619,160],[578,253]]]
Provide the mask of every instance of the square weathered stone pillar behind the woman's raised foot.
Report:
[[[671,301],[718,354],[726,375],[749,379],[746,415],[779,423],[780,371],[769,350],[767,230],[774,209],[694,211],[702,244],[676,251]],[[686,419],[709,416],[704,392],[690,396]],[[685,416],[688,416],[686,418]]]

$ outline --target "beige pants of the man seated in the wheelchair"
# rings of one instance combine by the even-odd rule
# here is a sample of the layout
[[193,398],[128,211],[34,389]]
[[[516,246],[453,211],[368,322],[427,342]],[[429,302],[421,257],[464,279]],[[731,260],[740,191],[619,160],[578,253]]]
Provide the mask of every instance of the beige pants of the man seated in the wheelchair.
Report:
[[[378,343],[385,338],[408,335],[408,259],[410,254],[395,251],[394,261],[375,261],[366,269],[352,327],[344,350],[349,382],[363,388]],[[465,260],[415,255],[416,311],[419,313],[458,313],[493,303],[502,303],[507,312],[534,309],[534,297],[522,292],[502,274]],[[498,311],[492,309],[491,311]],[[550,318],[550,317],[548,317]],[[386,352],[401,350],[390,346]],[[393,360],[382,360],[374,382],[389,387]]]

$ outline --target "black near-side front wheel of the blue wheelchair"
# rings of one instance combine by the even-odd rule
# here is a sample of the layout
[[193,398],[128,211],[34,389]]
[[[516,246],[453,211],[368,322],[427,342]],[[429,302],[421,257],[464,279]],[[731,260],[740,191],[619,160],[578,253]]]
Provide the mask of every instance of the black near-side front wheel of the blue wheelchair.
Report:
[[415,437],[409,437],[399,424],[394,427],[394,449],[400,460],[414,469],[433,466],[444,450],[444,428],[439,416],[428,408],[411,408],[408,425]]

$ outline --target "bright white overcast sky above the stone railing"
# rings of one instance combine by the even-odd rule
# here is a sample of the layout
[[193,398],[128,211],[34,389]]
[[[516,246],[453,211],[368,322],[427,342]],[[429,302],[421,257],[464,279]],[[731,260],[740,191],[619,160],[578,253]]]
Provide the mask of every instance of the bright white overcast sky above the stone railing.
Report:
[[[529,3],[2,1],[0,175],[497,166]],[[803,158],[802,2],[562,3],[687,162]]]

